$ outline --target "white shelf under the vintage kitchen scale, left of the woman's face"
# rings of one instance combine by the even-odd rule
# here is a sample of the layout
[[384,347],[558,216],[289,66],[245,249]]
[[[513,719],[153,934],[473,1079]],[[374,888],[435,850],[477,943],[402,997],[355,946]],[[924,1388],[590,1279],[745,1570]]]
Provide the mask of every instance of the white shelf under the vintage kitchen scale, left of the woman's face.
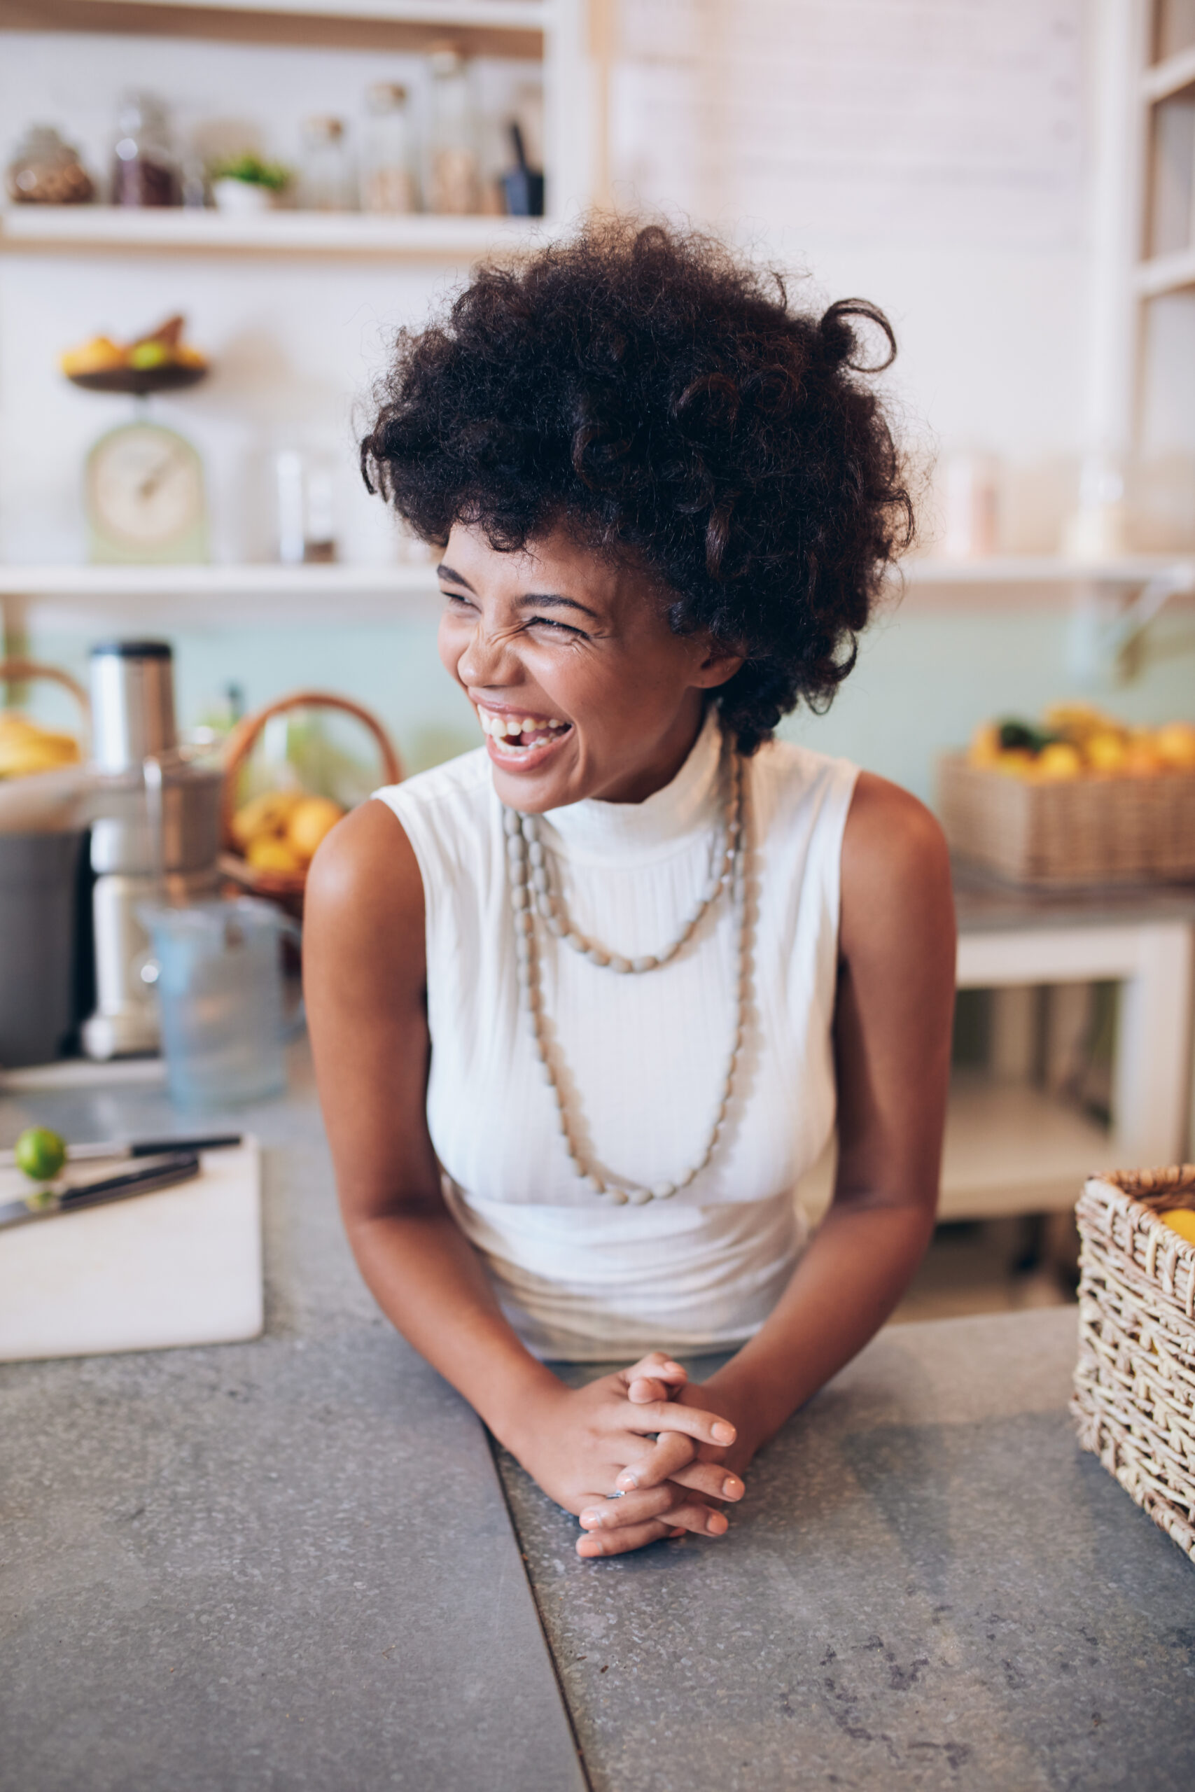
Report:
[[52,629],[434,618],[419,566],[0,566],[0,607]]

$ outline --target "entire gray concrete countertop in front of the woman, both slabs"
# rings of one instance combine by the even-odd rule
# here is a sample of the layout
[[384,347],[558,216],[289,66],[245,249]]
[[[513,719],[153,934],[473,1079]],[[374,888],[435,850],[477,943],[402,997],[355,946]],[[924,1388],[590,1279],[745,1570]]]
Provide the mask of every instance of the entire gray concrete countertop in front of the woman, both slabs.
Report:
[[[21,1093],[0,1145],[32,1120],[190,1125]],[[724,1539],[582,1563],[360,1285],[305,1054],[224,1120],[267,1335],[0,1367],[0,1792],[1195,1783],[1195,1570],[1075,1446],[1073,1310],[890,1328]]]

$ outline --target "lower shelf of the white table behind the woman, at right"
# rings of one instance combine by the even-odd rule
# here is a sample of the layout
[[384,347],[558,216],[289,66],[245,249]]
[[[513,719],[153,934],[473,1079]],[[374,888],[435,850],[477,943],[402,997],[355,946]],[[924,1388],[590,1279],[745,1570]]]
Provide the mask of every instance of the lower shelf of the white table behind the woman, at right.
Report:
[[1104,1127],[1041,1090],[959,1075],[946,1111],[939,1219],[1073,1208],[1116,1147]]

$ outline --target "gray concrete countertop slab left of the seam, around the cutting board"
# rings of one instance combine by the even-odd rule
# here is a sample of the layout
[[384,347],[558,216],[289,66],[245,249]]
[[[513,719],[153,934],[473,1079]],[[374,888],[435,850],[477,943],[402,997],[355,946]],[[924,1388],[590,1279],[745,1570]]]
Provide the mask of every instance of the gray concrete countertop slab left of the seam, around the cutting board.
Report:
[[[486,1435],[364,1290],[296,1070],[226,1116],[267,1147],[267,1335],[0,1367],[4,1792],[584,1785]],[[186,1127],[23,1095],[0,1143],[32,1118]]]

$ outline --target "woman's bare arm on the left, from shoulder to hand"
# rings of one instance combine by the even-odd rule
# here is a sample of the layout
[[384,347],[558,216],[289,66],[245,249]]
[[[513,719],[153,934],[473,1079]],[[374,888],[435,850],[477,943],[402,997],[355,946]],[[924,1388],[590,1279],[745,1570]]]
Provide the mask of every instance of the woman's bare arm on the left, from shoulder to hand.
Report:
[[[365,1283],[403,1337],[573,1512],[613,1491],[665,1417],[713,1439],[715,1414],[679,1414],[665,1400],[632,1405],[631,1371],[566,1389],[514,1335],[444,1206],[426,1127],[423,880],[398,817],[382,803],[351,814],[315,857],[303,969],[344,1226]],[[663,1358],[654,1374],[663,1383],[683,1378],[670,1376]],[[720,1491],[724,1471],[709,1466],[706,1475],[709,1491]],[[709,1516],[690,1503],[670,1521],[717,1529]]]

